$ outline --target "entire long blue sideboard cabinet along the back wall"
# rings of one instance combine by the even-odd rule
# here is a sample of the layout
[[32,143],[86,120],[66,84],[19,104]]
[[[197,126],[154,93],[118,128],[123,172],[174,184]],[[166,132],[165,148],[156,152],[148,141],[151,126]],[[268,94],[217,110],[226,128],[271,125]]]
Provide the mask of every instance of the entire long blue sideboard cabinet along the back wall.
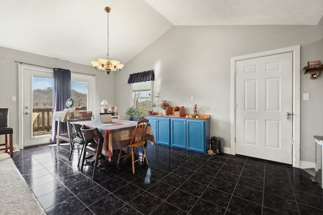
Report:
[[210,120],[146,116],[156,143],[206,153],[210,141]]

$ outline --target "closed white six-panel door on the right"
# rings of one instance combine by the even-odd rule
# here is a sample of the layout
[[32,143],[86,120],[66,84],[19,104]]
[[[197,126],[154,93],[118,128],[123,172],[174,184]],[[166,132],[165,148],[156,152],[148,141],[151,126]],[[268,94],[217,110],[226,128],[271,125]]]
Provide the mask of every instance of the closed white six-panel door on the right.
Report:
[[236,154],[292,164],[293,53],[237,61],[235,80]]

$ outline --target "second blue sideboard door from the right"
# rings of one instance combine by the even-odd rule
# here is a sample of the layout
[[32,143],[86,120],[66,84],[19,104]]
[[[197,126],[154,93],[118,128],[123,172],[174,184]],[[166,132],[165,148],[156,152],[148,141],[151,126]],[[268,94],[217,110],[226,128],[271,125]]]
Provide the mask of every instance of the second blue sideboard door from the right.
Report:
[[171,119],[171,145],[186,149],[186,120]]

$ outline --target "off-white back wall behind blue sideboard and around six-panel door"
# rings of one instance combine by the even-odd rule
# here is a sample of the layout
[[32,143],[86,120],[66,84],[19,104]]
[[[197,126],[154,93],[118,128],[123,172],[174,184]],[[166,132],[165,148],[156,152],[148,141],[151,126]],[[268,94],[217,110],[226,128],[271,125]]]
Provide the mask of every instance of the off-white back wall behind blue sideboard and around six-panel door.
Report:
[[[230,59],[301,45],[303,68],[307,61],[321,60],[323,63],[322,38],[321,25],[175,26],[117,74],[116,103],[119,111],[125,113],[131,105],[130,84],[127,84],[129,74],[154,69],[154,88],[160,100],[170,100],[171,106],[185,106],[185,113],[188,114],[193,113],[192,107],[196,103],[198,114],[210,115],[211,136],[220,135],[225,139],[225,147],[230,147]],[[315,144],[311,129],[315,128],[316,134],[321,132],[323,135],[323,118],[313,121],[309,115],[313,114],[313,110],[320,111],[323,94],[319,88],[311,87],[313,83],[322,83],[323,77],[314,81],[306,79],[305,75],[301,76],[301,94],[306,89],[311,100],[301,104],[301,160],[314,163]],[[191,96],[195,97],[195,101],[190,100]],[[160,109],[157,111],[161,112]],[[304,119],[308,121],[304,123]]]

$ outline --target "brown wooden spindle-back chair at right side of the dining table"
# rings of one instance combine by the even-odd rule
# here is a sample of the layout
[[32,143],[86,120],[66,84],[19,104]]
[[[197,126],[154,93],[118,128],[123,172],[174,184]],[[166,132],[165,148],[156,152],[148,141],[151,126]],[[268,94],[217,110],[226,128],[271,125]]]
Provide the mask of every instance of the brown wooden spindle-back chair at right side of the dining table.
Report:
[[[119,156],[118,156],[118,165],[120,164],[120,159],[125,156],[131,155],[131,164],[132,164],[132,173],[135,173],[135,163],[138,162],[141,159],[146,160],[147,166],[149,166],[148,158],[145,150],[145,137],[146,137],[146,130],[148,126],[149,120],[147,119],[141,119],[138,121],[135,130],[133,131],[130,143],[128,145],[128,152],[126,154],[123,153],[122,148],[120,149]],[[136,147],[142,147],[143,154],[135,153]],[[129,149],[131,150],[131,153],[129,153]],[[135,160],[135,155],[139,156],[138,159]]]

